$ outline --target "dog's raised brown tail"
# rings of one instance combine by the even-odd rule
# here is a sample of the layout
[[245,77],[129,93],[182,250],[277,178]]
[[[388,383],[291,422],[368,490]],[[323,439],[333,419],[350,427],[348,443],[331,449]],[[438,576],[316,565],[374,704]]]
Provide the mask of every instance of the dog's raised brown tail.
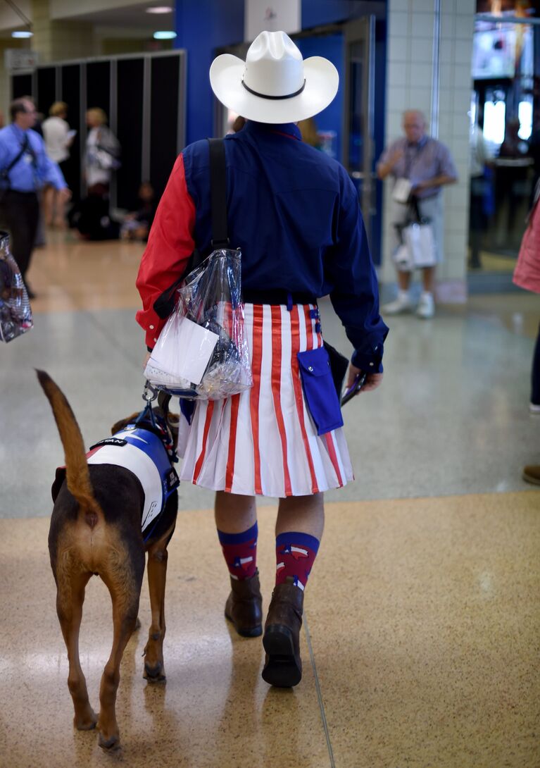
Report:
[[94,496],[81,429],[64,392],[58,384],[44,371],[36,369],[36,373],[41,388],[51,403],[58,432],[60,432],[60,439],[64,446],[67,489],[79,503],[81,512],[84,512],[84,520],[87,525],[94,528],[103,513]]

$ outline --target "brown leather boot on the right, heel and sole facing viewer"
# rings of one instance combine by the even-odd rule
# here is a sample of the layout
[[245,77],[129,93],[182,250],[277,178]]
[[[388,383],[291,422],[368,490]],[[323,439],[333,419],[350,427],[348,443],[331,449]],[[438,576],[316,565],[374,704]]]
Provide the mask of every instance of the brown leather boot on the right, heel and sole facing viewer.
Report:
[[304,592],[295,584],[278,584],[272,594],[262,644],[266,651],[262,679],[270,685],[291,688],[302,677],[300,627]]

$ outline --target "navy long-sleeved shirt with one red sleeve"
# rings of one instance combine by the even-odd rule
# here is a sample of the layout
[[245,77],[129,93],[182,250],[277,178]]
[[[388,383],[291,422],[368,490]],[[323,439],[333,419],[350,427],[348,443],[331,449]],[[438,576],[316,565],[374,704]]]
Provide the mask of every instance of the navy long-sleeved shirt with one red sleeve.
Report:
[[[242,131],[226,137],[225,148],[229,239],[231,247],[242,250],[242,288],[330,294],[354,346],[354,366],[382,370],[388,329],[379,315],[377,276],[357,191],[344,167],[301,141],[294,124],[248,121]],[[209,253],[208,142],[190,144],[182,159],[187,194],[193,200],[193,241],[202,253]],[[145,287],[159,284],[154,262],[163,263],[166,246],[172,244],[166,226],[175,210],[170,198],[175,194],[178,201],[182,194],[173,176],[174,171],[137,280],[145,306]],[[178,210],[182,206],[177,204]],[[149,296],[152,300],[151,292]],[[137,319],[147,329],[154,326],[147,324],[147,312]]]

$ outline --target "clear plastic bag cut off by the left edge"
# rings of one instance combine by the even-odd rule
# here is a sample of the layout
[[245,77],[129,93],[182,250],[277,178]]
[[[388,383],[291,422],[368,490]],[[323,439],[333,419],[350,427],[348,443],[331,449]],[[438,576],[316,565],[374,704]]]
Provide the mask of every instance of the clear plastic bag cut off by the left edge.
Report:
[[0,231],[0,340],[11,341],[33,325],[26,286],[9,252],[8,233]]

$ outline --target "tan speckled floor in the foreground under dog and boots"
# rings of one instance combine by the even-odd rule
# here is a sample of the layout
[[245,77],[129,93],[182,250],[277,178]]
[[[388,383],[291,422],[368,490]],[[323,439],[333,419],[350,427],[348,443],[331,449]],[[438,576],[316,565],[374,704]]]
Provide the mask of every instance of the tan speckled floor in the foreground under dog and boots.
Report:
[[[123,750],[72,726],[45,518],[0,521],[0,764],[6,768],[540,765],[540,491],[329,504],[306,591],[304,677],[261,679],[260,638],[223,617],[228,579],[209,511],[185,511],[170,545],[166,686],[127,646]],[[260,515],[265,604],[275,509]],[[81,663],[94,708],[110,650],[107,590],[87,588]]]

